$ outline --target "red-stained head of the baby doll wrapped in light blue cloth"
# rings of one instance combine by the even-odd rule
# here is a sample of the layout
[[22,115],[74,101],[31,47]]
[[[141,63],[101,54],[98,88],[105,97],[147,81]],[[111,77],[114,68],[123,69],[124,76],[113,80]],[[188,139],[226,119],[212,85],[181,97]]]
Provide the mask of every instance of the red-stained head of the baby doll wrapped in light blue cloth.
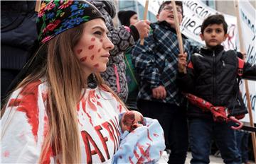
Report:
[[120,125],[122,132],[124,132],[126,130],[133,131],[137,127],[142,127],[146,125],[146,123],[144,122],[143,116],[140,112],[130,110],[124,113]]

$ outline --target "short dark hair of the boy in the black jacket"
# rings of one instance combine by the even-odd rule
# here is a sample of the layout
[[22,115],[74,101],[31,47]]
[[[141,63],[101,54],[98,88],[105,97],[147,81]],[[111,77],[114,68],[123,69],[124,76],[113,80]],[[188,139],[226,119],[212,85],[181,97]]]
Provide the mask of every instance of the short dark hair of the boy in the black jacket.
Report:
[[223,24],[225,34],[228,32],[228,24],[225,22],[224,16],[220,15],[220,14],[215,14],[215,15],[212,15],[212,16],[208,16],[203,21],[203,23],[201,25],[202,35],[203,35],[203,30],[205,30],[208,25],[213,25],[213,24],[217,24],[217,25]]

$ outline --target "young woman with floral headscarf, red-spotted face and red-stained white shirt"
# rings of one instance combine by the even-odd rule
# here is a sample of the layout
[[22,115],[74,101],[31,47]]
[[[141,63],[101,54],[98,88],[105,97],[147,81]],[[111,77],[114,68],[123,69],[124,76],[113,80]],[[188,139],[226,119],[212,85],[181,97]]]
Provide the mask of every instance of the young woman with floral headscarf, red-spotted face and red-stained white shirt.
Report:
[[41,48],[1,111],[1,162],[110,163],[127,110],[100,78],[114,47],[102,14],[44,1],[37,24]]

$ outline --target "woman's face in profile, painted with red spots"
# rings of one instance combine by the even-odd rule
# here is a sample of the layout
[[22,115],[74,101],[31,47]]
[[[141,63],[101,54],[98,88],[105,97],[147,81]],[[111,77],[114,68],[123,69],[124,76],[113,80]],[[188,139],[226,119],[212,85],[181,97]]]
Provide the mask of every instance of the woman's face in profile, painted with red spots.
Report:
[[89,76],[92,72],[103,72],[107,69],[110,49],[114,45],[107,37],[107,27],[101,18],[88,21],[84,25],[82,37],[75,45],[74,53],[86,76]]

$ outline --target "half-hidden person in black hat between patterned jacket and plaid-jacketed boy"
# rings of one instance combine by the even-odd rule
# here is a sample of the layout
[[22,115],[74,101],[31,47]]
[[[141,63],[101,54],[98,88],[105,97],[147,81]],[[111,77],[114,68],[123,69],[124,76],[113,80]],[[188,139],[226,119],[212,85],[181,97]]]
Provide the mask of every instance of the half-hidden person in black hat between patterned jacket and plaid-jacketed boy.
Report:
[[[122,25],[130,26],[137,23],[138,16],[135,11],[119,11],[118,18]],[[128,83],[128,98],[125,102],[127,107],[131,110],[137,110],[137,96],[139,92],[138,88],[138,81],[136,76],[136,71],[134,65],[132,64],[132,57],[131,57],[132,47],[129,47],[124,54],[125,64],[126,64],[126,78]]]

